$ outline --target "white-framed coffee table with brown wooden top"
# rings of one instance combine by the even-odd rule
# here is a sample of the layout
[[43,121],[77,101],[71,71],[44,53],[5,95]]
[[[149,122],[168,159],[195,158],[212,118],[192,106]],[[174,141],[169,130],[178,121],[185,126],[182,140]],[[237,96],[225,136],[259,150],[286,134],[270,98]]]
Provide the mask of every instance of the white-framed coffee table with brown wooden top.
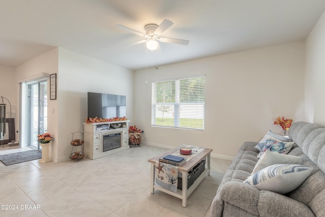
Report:
[[[149,159],[148,162],[151,163],[151,181],[150,181],[150,192],[151,194],[154,194],[154,190],[159,190],[162,192],[165,192],[167,194],[170,194],[174,197],[182,199],[182,206],[186,207],[187,205],[187,198],[190,196],[190,194],[198,187],[198,185],[201,183],[201,181],[204,179],[204,177],[208,174],[210,175],[210,157],[211,157],[211,148],[205,148],[203,151],[199,152],[194,156],[193,158],[189,159],[185,164],[180,166],[178,168],[178,171],[181,172],[182,175],[182,190],[177,189],[177,192],[172,192],[168,189],[165,189],[155,183],[155,165],[156,162],[159,161],[160,158],[163,158],[164,156],[168,154],[175,153],[179,150],[180,147],[186,147],[187,145],[180,145],[172,150],[169,150],[160,156],[157,156],[155,158]],[[191,187],[187,189],[187,176],[188,171],[190,171],[194,166],[196,166],[200,161],[206,159],[207,167],[202,172],[202,174],[193,182]]]

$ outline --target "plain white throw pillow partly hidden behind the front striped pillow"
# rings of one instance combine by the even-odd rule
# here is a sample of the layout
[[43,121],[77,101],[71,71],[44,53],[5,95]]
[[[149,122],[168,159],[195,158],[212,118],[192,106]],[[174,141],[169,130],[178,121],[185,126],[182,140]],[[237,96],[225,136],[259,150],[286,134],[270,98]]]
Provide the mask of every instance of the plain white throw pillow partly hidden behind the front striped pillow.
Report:
[[257,161],[252,174],[274,164],[301,164],[302,159],[298,156],[266,150]]

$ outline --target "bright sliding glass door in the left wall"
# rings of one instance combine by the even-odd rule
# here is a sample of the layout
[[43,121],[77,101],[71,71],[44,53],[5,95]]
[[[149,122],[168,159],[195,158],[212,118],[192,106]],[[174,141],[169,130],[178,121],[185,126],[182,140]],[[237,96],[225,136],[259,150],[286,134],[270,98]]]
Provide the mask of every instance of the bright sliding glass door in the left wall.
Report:
[[47,132],[47,81],[30,83],[27,87],[27,146],[40,150],[37,135]]

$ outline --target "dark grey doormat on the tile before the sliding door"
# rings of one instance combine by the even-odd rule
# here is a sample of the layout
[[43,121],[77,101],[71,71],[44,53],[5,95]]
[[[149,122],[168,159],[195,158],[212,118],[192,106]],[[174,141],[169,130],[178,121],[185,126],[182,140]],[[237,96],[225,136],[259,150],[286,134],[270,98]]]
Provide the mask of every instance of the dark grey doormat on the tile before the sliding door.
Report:
[[26,161],[32,161],[42,158],[42,152],[37,150],[22,151],[17,153],[10,153],[0,155],[0,161],[6,166],[19,164]]

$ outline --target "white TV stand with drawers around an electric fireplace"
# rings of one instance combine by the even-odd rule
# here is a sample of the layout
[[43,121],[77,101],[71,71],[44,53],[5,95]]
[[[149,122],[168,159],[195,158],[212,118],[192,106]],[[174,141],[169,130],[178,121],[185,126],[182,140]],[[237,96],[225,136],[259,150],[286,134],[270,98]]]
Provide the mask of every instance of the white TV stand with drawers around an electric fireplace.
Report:
[[[128,122],[129,120],[83,123],[85,157],[93,160],[129,149]],[[121,127],[113,129],[113,123],[120,123]],[[118,132],[121,133],[121,147],[103,151],[103,135]]]

